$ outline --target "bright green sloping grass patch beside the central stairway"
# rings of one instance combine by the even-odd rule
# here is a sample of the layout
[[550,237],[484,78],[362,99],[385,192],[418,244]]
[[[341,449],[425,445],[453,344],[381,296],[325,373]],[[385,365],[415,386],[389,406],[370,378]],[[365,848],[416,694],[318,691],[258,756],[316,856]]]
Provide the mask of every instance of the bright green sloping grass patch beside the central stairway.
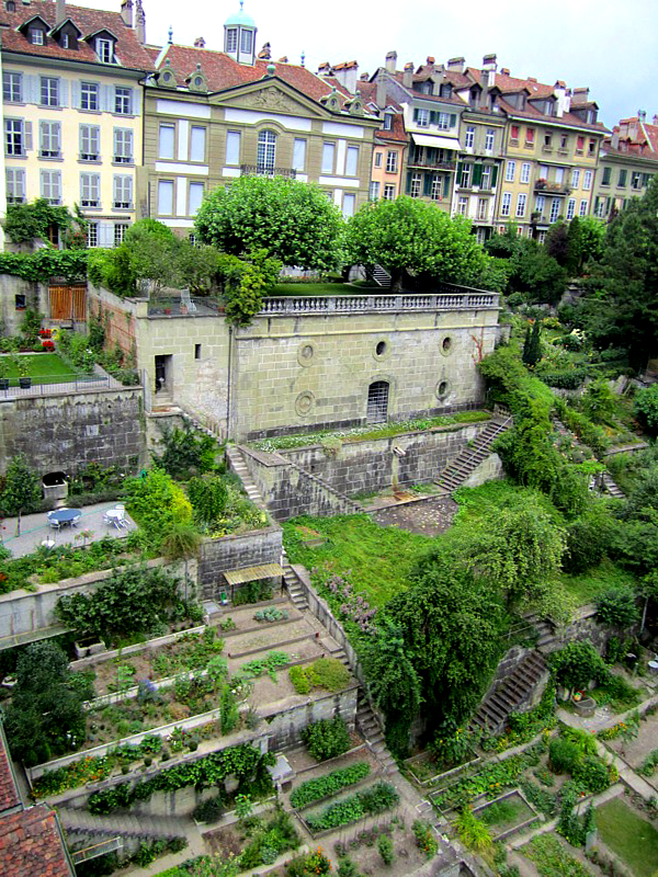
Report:
[[[325,536],[324,545],[304,545],[299,526]],[[283,524],[283,537],[293,563],[345,576],[376,606],[407,588],[410,570],[433,543],[429,536],[381,527],[366,514],[297,517]]]

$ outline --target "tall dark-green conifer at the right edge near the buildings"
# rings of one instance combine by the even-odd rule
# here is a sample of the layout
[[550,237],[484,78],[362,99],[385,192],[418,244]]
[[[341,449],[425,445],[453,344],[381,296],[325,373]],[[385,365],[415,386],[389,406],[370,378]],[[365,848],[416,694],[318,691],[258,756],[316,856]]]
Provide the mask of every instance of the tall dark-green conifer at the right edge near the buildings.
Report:
[[585,328],[600,346],[622,348],[634,365],[646,365],[658,353],[658,175],[610,224],[593,285]]

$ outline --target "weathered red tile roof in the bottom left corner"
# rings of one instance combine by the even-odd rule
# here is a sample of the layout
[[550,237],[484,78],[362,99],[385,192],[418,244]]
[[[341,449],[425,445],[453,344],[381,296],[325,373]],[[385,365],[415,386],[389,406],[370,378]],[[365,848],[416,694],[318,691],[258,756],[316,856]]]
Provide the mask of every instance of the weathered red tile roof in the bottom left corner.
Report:
[[0,818],[2,877],[75,877],[54,810],[39,804]]

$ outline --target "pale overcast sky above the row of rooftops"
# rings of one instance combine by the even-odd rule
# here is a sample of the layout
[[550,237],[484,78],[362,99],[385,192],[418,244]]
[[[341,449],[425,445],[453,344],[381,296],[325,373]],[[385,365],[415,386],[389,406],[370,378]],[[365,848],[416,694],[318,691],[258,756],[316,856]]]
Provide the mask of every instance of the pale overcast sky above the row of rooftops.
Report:
[[[111,9],[120,0],[78,0],[80,5]],[[239,0],[144,0],[149,43],[192,44],[204,36],[206,48],[222,50],[223,25]],[[646,110],[658,113],[658,1],[571,0],[568,4],[529,0],[245,0],[258,25],[257,44],[272,44],[275,59],[287,55],[317,70],[328,60],[358,60],[360,72],[383,66],[387,52],[398,53],[398,67],[428,55],[436,61],[463,55],[472,66],[496,53],[498,66],[512,76],[541,82],[564,79],[569,88],[589,86],[600,118],[612,125]]]

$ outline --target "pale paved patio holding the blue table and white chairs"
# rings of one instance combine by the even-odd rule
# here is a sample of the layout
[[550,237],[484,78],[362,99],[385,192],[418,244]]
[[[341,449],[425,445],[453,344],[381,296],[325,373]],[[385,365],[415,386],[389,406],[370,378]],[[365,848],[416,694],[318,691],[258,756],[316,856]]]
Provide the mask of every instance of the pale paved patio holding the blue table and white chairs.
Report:
[[[75,497],[69,498],[67,508],[75,509]],[[125,514],[127,526],[117,529],[112,524],[103,521],[103,515],[107,509],[113,509],[116,503],[99,502],[94,505],[86,505],[80,509],[82,515],[76,526],[64,526],[54,529],[48,523],[45,512],[38,514],[26,514],[21,517],[21,535],[16,536],[16,519],[5,517],[2,521],[2,543],[13,557],[23,557],[36,551],[42,543],[48,540],[55,545],[84,545],[90,542],[98,542],[105,536],[113,539],[125,538],[128,533],[137,528],[137,525]],[[86,535],[84,535],[86,534]]]

